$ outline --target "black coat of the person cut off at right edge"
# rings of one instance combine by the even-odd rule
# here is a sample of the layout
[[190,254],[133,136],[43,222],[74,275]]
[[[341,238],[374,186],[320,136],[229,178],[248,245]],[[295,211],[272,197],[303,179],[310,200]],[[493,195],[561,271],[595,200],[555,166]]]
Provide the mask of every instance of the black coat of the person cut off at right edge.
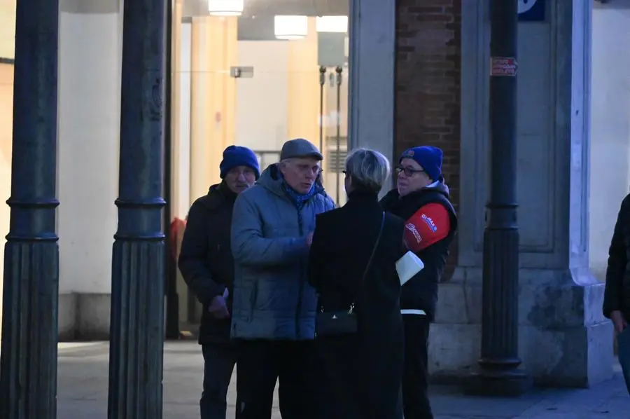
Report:
[[622,201],[608,250],[603,315],[619,310],[630,322],[630,195]]

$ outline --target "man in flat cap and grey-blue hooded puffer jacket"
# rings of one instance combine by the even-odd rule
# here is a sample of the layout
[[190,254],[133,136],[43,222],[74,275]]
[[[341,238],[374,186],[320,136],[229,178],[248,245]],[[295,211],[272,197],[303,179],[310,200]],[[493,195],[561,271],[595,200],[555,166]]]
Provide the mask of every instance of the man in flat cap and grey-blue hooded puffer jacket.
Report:
[[283,419],[318,415],[317,296],[307,282],[307,259],[316,214],[335,207],[318,182],[322,159],[316,146],[292,139],[282,146],[281,162],[235,202],[237,419],[270,417],[276,379]]

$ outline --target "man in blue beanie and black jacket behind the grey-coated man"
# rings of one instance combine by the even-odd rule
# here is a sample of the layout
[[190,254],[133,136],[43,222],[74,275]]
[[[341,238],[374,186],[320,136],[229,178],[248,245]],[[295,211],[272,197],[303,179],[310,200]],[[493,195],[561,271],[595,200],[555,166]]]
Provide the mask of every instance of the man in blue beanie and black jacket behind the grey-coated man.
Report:
[[237,362],[230,342],[234,259],[230,244],[232,209],[237,195],[260,177],[258,158],[241,146],[223,151],[221,184],[195,200],[179,255],[186,284],[203,305],[199,343],[204,355],[201,419],[225,419],[232,371]]

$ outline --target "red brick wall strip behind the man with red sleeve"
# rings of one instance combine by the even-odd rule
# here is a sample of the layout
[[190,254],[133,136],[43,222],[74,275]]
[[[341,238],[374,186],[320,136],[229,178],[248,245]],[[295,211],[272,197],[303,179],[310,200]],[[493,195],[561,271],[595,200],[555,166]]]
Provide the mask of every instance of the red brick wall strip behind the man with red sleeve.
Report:
[[[444,178],[459,201],[461,1],[398,0],[395,152],[444,150]],[[449,275],[456,261],[454,247]]]

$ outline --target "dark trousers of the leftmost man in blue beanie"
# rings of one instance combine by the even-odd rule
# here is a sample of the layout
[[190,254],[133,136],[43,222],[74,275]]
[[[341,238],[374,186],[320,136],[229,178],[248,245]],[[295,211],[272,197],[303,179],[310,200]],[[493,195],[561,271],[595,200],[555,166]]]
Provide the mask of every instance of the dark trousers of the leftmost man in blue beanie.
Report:
[[202,345],[204,392],[199,401],[201,419],[225,419],[228,387],[237,362],[237,348],[230,343]]

